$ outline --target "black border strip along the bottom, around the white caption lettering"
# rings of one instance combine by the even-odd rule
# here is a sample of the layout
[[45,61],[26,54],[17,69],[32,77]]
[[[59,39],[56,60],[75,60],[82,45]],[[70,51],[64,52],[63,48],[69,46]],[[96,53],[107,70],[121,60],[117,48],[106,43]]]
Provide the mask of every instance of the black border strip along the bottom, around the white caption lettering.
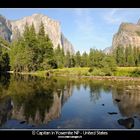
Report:
[[[47,131],[47,130],[46,130]],[[49,130],[48,130],[49,131]],[[47,131],[47,132],[48,132]],[[53,130],[54,131],[54,130]],[[62,131],[62,130],[60,130]],[[69,130],[64,130],[64,131],[69,131]],[[73,131],[73,130],[70,130],[70,131]],[[83,130],[84,131],[84,130]],[[92,130],[91,130],[92,131]],[[108,139],[108,140],[129,140],[129,139],[139,139],[139,136],[140,136],[140,131],[138,130],[98,130],[98,131],[105,131],[105,132],[108,132],[108,135],[95,135],[95,136],[90,136],[90,135],[81,135],[82,136],[82,139],[95,139],[95,140],[98,140],[98,139]],[[82,133],[82,130],[80,130],[80,132]],[[4,139],[24,139],[26,140],[27,138],[28,139],[57,139],[58,136],[57,135],[51,135],[51,136],[46,136],[46,135],[43,135],[43,136],[40,136],[40,135],[32,135],[32,131],[0,131],[0,139],[1,138],[4,138]]]

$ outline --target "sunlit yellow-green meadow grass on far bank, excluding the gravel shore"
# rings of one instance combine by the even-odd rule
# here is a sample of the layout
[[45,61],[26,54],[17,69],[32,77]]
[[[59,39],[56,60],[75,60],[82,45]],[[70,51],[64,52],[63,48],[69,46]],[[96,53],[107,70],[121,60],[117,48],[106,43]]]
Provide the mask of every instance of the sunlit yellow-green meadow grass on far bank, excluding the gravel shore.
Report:
[[[39,77],[45,77],[47,71],[36,71],[30,73]],[[62,68],[62,69],[52,69],[49,70],[50,74],[53,76],[105,76],[104,69],[99,68],[89,68],[89,67],[78,67],[78,68]],[[108,72],[108,69],[106,69]],[[117,67],[115,72],[112,72],[111,76],[127,76],[127,77],[140,77],[140,67]]]

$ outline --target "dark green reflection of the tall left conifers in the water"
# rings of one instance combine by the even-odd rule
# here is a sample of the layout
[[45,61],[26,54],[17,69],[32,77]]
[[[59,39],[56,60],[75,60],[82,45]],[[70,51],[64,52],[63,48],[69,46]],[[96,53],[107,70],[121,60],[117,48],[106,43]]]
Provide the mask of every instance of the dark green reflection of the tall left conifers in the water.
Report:
[[[13,116],[29,120],[35,120],[38,112],[38,119],[44,120],[45,113],[49,112],[53,104],[53,88],[50,83],[42,80],[25,80],[20,77],[18,80],[11,79],[8,93],[14,104]],[[19,113],[18,113],[19,112]]]

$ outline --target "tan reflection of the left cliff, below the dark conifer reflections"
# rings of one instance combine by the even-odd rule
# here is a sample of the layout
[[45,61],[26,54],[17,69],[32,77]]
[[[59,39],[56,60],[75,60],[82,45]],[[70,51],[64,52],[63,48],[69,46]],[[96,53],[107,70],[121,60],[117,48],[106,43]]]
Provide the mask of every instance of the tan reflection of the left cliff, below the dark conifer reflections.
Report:
[[[57,93],[53,93],[53,101],[50,106],[50,108],[47,110],[47,108],[42,107],[42,110],[39,108],[41,104],[47,104],[47,98],[44,98],[44,103],[40,102],[37,103],[34,108],[30,108],[34,113],[30,112],[26,108],[26,103],[23,103],[23,105],[20,108],[17,108],[16,106],[12,110],[12,118],[17,120],[25,120],[29,124],[39,125],[39,124],[47,124],[50,120],[56,119],[60,116],[61,113],[61,97],[58,96]],[[47,105],[43,105],[47,106]],[[26,112],[29,111],[29,112]]]

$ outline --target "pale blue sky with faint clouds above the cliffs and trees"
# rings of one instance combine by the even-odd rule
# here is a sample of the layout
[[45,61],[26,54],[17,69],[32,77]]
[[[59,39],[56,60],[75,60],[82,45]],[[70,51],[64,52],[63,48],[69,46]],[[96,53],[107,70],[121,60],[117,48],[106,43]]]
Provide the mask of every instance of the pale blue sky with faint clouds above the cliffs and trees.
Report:
[[61,30],[75,50],[89,52],[112,44],[113,35],[122,22],[137,23],[140,8],[1,8],[10,20],[41,13],[61,23]]

